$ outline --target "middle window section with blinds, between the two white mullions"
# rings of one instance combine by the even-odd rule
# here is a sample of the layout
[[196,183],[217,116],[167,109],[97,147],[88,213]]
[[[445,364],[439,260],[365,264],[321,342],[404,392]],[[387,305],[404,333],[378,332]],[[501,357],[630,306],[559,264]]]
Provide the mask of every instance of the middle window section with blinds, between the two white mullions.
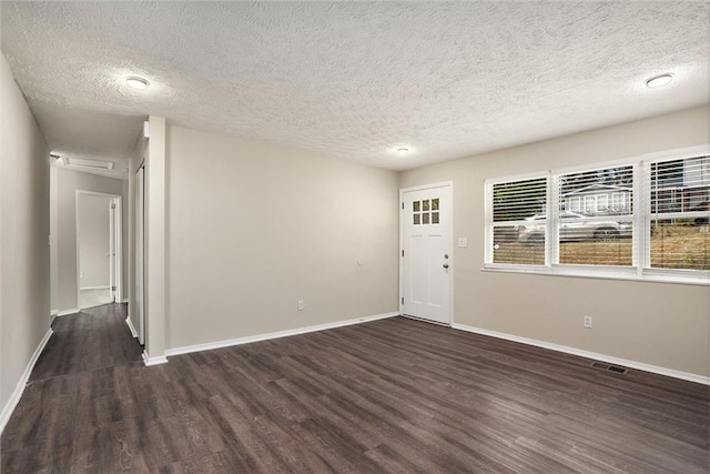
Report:
[[633,264],[633,167],[600,168],[555,177],[557,262]]

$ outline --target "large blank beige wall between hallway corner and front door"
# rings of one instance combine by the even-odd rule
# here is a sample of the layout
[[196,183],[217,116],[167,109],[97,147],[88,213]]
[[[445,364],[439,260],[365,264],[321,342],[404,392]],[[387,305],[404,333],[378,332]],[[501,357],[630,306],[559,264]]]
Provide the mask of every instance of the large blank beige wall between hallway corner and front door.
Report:
[[397,311],[397,195],[392,171],[169,127],[168,347]]

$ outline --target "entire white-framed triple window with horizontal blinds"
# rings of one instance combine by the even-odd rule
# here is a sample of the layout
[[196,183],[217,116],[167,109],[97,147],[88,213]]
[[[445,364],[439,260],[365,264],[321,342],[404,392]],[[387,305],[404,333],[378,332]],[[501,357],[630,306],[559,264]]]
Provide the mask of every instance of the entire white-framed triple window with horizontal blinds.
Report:
[[710,283],[710,157],[486,180],[487,269]]

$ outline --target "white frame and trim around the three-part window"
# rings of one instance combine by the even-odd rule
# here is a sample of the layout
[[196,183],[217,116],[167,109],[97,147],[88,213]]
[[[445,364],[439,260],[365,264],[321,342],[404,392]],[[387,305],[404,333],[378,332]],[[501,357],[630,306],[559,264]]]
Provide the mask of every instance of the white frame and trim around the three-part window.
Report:
[[[592,279],[611,279],[611,280],[633,280],[633,281],[651,281],[667,283],[682,283],[694,285],[710,285],[710,270],[691,270],[691,269],[660,269],[651,268],[651,242],[650,229],[653,221],[653,214],[650,210],[651,200],[651,163],[684,160],[688,158],[707,155],[710,157],[710,144],[699,147],[689,147],[683,149],[667,150],[657,153],[648,153],[631,157],[623,160],[613,160],[606,162],[588,163],[579,167],[554,169],[540,172],[531,172],[504,178],[486,179],[485,189],[485,252],[483,271],[495,272],[514,272],[514,273],[531,273],[544,275],[560,276],[578,276]],[[632,167],[632,212],[627,214],[632,223],[632,263],[630,266],[613,265],[579,265],[579,264],[560,264],[559,263],[559,225],[560,215],[559,208],[562,202],[559,199],[559,178],[562,174],[599,170],[604,168]],[[495,223],[493,222],[493,186],[494,184],[509,183],[515,181],[524,181],[530,179],[547,179],[547,202],[546,202],[546,240],[545,240],[545,264],[514,264],[514,263],[494,263],[493,262],[493,236]],[[615,196],[611,193],[608,201],[615,205]],[[623,204],[629,203],[627,193],[618,193],[621,195]],[[584,199],[580,200],[580,208],[585,206]],[[595,198],[595,203],[598,201]],[[584,211],[575,211],[584,212]],[[670,215],[670,214],[669,214]],[[674,215],[674,214],[673,214]],[[684,213],[683,216],[689,216]]]

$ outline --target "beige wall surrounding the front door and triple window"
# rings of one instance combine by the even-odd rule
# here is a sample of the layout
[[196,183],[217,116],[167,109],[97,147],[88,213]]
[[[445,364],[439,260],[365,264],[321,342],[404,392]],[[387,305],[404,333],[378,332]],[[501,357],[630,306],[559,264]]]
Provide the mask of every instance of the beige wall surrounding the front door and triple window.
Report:
[[[709,375],[707,286],[483,272],[484,180],[707,144],[708,108],[444,162],[402,188],[454,182],[456,323]],[[592,330],[582,315],[594,316]]]

